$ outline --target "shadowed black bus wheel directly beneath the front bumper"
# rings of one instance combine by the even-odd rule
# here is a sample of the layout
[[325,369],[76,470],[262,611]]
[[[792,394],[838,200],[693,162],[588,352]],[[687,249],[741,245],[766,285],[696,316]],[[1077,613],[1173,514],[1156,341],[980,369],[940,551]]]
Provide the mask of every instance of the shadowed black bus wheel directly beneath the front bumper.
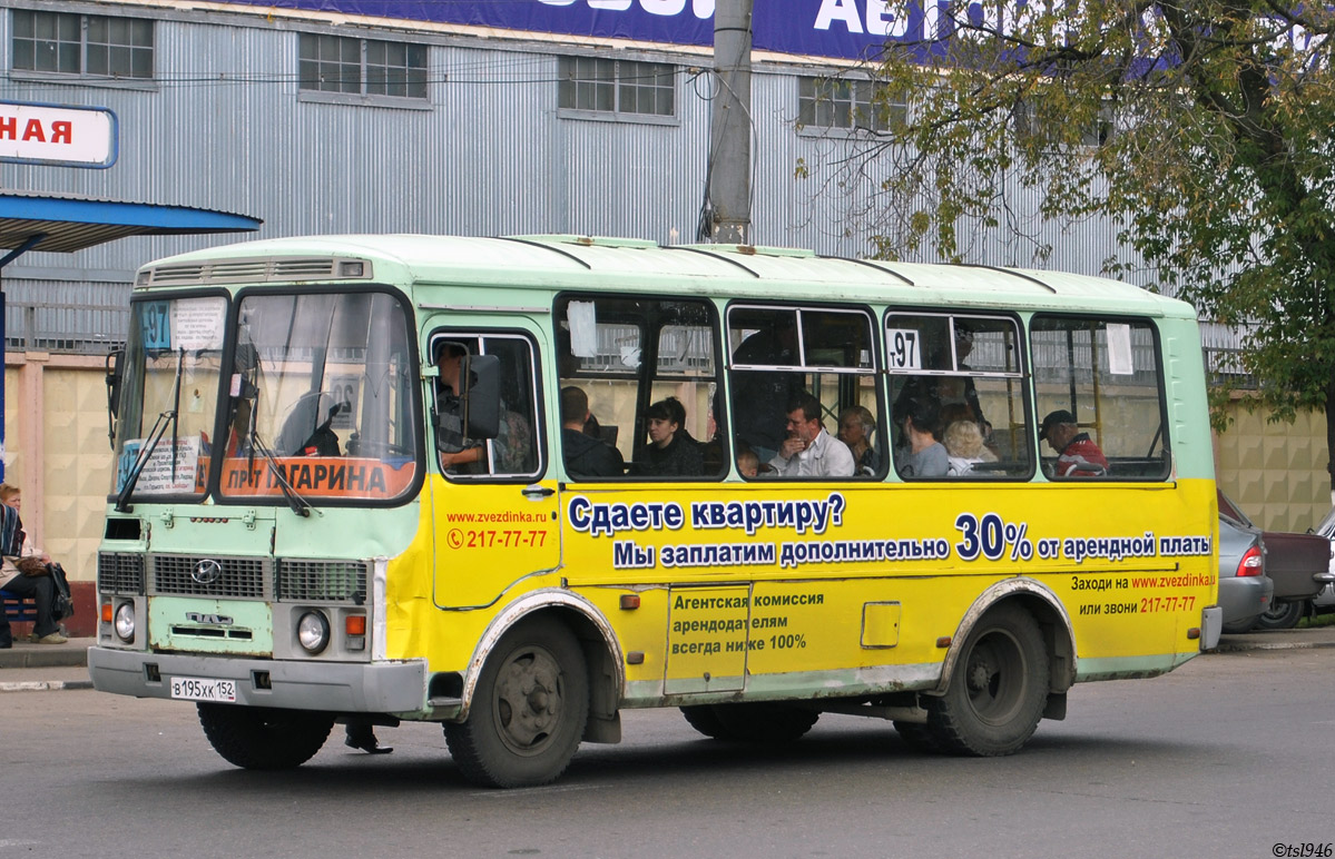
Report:
[[246,770],[291,770],[320,750],[334,727],[334,716],[306,710],[195,706],[204,736],[219,755]]

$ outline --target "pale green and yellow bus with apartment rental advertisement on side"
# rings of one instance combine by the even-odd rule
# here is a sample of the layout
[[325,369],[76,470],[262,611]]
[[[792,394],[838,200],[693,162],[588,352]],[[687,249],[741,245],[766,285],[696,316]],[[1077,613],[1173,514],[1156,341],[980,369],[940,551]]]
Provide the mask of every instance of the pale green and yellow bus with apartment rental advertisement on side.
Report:
[[1195,313],[1121,283],[278,239],[140,269],[111,365],[89,671],[239,767],[417,720],[542,784],[646,707],[1007,755],[1220,632]]

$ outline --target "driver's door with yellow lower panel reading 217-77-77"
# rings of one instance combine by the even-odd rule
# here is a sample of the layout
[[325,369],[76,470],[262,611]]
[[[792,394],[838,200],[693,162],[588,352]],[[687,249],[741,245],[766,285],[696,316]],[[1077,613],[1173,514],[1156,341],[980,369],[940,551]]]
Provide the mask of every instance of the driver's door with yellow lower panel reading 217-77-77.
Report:
[[[437,369],[427,391],[439,472],[433,476],[435,604],[493,604],[515,582],[561,560],[557,480],[546,462],[538,391],[538,337],[529,327],[438,329],[427,343]],[[462,395],[499,389],[495,435],[470,436]],[[442,476],[443,474],[443,476]]]

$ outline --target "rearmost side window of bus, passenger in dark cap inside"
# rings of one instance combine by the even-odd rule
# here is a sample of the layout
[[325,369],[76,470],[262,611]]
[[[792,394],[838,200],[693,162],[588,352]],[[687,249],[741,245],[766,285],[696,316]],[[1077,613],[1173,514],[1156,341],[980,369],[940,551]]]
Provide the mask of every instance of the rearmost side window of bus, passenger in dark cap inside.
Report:
[[1159,340],[1143,319],[1035,316],[1037,438],[1053,480],[1163,480],[1169,439]]

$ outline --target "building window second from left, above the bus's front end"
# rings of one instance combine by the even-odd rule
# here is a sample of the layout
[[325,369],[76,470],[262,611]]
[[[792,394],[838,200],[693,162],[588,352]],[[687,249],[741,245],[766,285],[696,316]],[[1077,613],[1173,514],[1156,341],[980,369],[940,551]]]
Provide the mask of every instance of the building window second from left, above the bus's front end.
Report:
[[426,45],[302,33],[300,88],[426,99]]

